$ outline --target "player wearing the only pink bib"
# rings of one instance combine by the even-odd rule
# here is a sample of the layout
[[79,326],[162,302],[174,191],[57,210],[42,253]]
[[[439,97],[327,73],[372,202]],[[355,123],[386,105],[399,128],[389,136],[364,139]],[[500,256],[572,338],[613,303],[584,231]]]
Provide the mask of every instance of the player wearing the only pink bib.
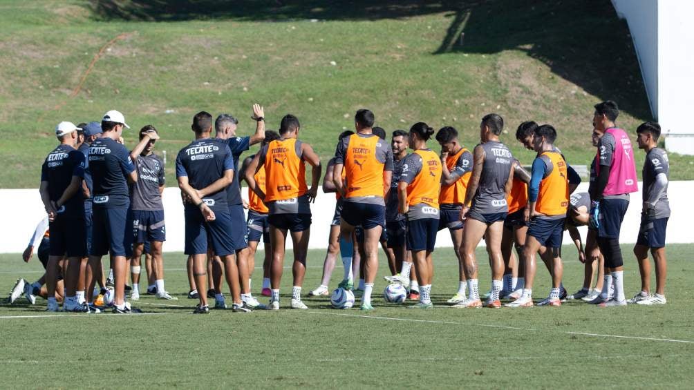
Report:
[[[605,276],[600,296],[592,303],[604,306],[627,304],[624,296],[624,262],[619,233],[629,207],[629,193],[638,191],[632,141],[616,127],[617,103],[607,100],[595,105],[593,127],[602,137],[598,142],[598,177],[591,194],[590,224],[598,229],[598,246],[605,259]],[[612,299],[607,299],[611,287]]]

